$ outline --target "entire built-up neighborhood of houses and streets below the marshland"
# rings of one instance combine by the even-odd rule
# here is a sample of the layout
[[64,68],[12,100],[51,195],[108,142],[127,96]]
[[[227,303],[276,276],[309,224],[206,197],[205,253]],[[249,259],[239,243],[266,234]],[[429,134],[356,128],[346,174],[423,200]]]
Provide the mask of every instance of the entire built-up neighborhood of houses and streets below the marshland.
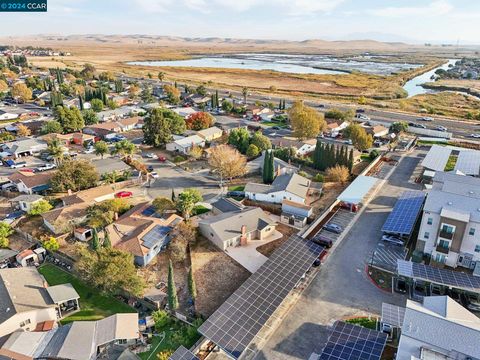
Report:
[[477,130],[74,57],[0,53],[0,359],[480,359]]

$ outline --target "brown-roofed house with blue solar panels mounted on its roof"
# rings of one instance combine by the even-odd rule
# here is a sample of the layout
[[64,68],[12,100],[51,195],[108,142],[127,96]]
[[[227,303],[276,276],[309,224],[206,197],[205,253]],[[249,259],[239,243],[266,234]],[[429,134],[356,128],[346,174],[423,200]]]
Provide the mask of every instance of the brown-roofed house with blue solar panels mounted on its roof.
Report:
[[152,205],[143,202],[105,229],[112,246],[131,253],[139,266],[148,265],[167,247],[171,231],[183,221],[176,214],[166,214],[164,217],[152,215],[155,215]]

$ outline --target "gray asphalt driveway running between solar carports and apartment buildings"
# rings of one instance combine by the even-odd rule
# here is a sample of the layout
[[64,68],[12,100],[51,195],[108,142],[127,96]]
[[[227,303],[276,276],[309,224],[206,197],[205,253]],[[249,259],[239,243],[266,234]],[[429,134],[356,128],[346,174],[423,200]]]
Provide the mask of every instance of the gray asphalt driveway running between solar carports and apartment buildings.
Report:
[[328,338],[328,326],[335,320],[379,315],[382,302],[405,304],[403,296],[374,286],[365,269],[397,196],[406,189],[419,188],[408,183],[419,161],[415,151],[395,167],[255,359],[308,359],[313,352],[321,352]]

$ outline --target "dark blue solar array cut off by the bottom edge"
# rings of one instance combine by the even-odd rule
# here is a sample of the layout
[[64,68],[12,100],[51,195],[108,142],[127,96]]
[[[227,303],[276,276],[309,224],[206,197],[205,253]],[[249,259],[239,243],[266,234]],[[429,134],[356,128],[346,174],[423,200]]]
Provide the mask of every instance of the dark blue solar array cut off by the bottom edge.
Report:
[[319,360],[379,360],[387,334],[336,321]]

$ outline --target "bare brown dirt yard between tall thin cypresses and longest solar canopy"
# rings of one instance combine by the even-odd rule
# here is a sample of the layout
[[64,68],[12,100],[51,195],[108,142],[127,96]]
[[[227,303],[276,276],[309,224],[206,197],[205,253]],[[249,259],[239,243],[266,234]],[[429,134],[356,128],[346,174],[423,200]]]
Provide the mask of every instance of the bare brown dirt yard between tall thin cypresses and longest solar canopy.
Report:
[[250,276],[203,237],[191,250],[191,259],[197,285],[196,310],[204,316],[210,316]]

